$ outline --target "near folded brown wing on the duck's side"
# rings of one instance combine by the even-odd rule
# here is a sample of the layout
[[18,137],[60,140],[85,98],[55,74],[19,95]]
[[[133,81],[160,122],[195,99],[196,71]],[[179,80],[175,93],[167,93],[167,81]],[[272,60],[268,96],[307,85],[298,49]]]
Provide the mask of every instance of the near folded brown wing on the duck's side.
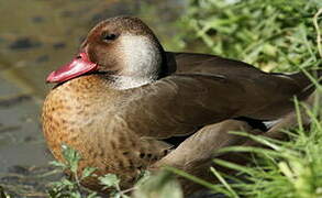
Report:
[[[130,107],[123,108],[119,117],[131,123],[129,128],[136,133],[155,138],[186,134],[242,116],[270,120],[292,107],[290,97],[296,88],[282,92],[280,87],[260,77],[254,82],[246,77],[241,81],[223,75],[173,75],[126,90]],[[281,102],[282,108],[276,106]]]

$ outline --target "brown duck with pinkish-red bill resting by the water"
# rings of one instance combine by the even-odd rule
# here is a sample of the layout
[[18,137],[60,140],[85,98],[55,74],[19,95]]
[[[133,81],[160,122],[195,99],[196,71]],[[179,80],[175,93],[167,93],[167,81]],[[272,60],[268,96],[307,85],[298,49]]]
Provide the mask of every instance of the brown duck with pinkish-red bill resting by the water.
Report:
[[143,170],[167,165],[169,155],[196,155],[181,150],[185,141],[210,145],[199,146],[199,154],[212,145],[242,144],[226,132],[265,131],[264,121],[293,110],[293,97],[306,100],[314,91],[303,72],[265,73],[215,55],[166,52],[134,16],[97,24],[76,57],[46,81],[56,84],[42,109],[46,143],[60,162],[63,144],[77,150],[79,173],[96,167],[96,176],[81,180],[95,190],[103,190],[98,176],[115,174],[121,188],[129,188]]

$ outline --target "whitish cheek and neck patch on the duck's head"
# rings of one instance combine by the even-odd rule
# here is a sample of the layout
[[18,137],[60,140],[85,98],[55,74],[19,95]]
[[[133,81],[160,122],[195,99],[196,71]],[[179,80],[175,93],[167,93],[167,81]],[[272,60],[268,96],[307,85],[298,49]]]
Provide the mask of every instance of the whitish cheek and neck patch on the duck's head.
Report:
[[119,40],[118,47],[124,67],[122,76],[115,76],[115,88],[129,89],[156,80],[162,64],[158,46],[142,35],[126,34]]

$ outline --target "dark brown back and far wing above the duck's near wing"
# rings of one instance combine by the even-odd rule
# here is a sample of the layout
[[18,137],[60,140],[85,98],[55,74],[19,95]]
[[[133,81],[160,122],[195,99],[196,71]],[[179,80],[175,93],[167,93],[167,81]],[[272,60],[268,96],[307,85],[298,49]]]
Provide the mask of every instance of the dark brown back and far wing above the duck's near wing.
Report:
[[[289,100],[293,96],[304,100],[314,90],[311,80],[301,72],[291,75],[264,73],[249,64],[208,54],[167,52],[166,55],[170,70],[175,74],[222,75],[240,82],[247,91],[255,91],[254,96],[263,98],[266,106],[263,103],[262,108],[257,109],[256,117],[249,114],[252,118],[269,119],[280,114],[276,111],[286,113],[292,107]],[[322,69],[311,70],[310,74],[321,77]]]

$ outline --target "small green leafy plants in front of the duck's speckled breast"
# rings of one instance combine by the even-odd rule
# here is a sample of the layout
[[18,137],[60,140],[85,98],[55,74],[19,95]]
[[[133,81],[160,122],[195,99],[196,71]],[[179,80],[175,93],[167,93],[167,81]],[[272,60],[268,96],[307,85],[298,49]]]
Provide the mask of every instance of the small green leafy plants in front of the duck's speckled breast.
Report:
[[[52,183],[48,195],[52,198],[98,198],[97,193],[80,186],[80,182],[89,176],[96,176],[93,167],[87,167],[82,170],[81,177],[78,177],[78,163],[81,160],[80,154],[73,147],[62,146],[65,163],[52,162],[52,164],[63,170],[70,170],[73,178],[63,178],[59,182]],[[129,189],[120,188],[120,179],[114,174],[107,174],[99,177],[100,183],[106,188],[111,188],[111,198],[130,198],[129,193],[133,193],[134,198],[181,198],[182,191],[179,184],[175,180],[174,175],[169,172],[162,172],[151,177],[149,172],[142,174],[134,187]],[[1,190],[1,189],[0,189]],[[1,191],[0,191],[1,193]],[[2,198],[2,197],[1,197]]]

